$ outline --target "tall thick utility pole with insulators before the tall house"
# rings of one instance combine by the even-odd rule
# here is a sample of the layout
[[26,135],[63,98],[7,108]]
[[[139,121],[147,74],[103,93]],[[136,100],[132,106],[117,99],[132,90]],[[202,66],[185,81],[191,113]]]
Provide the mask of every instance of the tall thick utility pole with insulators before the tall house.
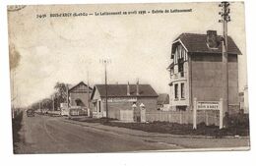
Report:
[[219,7],[222,8],[221,15],[222,19],[219,23],[223,23],[223,102],[224,102],[224,113],[228,112],[228,53],[227,53],[227,23],[230,22],[230,9],[228,2],[222,2]]

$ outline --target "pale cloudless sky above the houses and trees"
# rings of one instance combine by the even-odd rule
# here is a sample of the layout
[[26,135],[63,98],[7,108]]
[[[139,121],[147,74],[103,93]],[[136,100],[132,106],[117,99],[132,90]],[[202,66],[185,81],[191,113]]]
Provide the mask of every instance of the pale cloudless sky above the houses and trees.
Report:
[[[187,13],[152,14],[152,10],[192,9]],[[140,15],[139,11],[151,13]],[[95,13],[137,11],[136,15],[96,16]],[[93,85],[150,83],[157,92],[169,92],[172,41],[182,32],[222,34],[218,3],[160,3],[112,5],[40,5],[8,12],[9,43],[21,55],[11,71],[13,102],[28,106],[50,96],[56,82]],[[92,16],[52,17],[50,14],[92,13]],[[46,18],[36,18],[46,14]],[[247,84],[244,5],[231,3],[230,35],[242,52],[238,57],[239,90]]]

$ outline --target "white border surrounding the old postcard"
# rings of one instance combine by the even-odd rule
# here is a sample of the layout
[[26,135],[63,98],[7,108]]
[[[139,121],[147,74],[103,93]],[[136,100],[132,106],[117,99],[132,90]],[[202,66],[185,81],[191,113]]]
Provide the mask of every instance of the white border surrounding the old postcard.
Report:
[[[205,2],[207,0],[197,0]],[[246,34],[248,55],[248,87],[251,125],[250,151],[211,151],[211,152],[147,152],[147,153],[95,153],[95,154],[40,154],[40,155],[14,155],[12,153],[10,85],[8,65],[8,32],[7,32],[7,4],[84,4],[84,3],[138,3],[138,2],[170,2],[170,1],[82,1],[82,0],[12,0],[0,2],[1,44],[0,44],[0,164],[1,165],[253,165],[255,158],[255,101],[256,82],[255,67],[255,0],[245,0]],[[171,0],[171,2],[180,2]],[[193,2],[185,0],[184,2]],[[237,25],[239,26],[239,25]]]

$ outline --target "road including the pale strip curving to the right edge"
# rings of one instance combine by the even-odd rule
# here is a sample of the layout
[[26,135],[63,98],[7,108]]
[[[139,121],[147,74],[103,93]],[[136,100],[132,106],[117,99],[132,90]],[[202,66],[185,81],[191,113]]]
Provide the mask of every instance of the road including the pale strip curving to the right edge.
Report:
[[121,152],[184,148],[243,147],[248,138],[184,138],[150,134],[63,117],[24,116],[17,153]]

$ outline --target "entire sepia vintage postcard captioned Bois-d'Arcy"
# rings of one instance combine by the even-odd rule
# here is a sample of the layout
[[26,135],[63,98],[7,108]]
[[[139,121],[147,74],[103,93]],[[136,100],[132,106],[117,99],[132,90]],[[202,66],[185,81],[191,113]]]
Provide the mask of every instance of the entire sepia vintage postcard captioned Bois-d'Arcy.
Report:
[[250,149],[243,2],[7,12],[15,154]]

